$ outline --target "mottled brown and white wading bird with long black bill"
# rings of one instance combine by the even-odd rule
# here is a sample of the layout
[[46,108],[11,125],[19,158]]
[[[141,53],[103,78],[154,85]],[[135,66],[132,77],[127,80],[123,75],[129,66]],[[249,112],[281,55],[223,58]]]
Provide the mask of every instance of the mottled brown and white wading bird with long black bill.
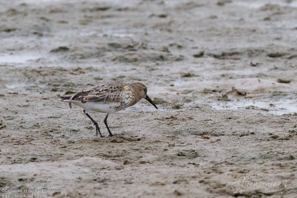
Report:
[[114,114],[127,107],[131,107],[141,99],[149,101],[156,109],[156,104],[147,95],[147,87],[142,83],[102,83],[97,87],[90,89],[89,91],[83,91],[76,93],[73,96],[62,96],[61,101],[68,102],[69,107],[72,108],[72,104],[83,108],[83,113],[94,123],[96,127],[96,136],[98,132],[100,137],[105,137],[101,134],[98,123],[89,115],[90,111],[96,111],[100,113],[106,113],[104,123],[108,130],[109,136],[112,137],[116,134],[112,134],[107,125],[108,115]]

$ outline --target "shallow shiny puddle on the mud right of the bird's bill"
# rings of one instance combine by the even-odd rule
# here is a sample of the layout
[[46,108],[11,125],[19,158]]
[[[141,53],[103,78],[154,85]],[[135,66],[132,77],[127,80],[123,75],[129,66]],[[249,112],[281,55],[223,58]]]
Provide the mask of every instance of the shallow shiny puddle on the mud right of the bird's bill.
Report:
[[[270,105],[272,104],[272,105]],[[257,107],[260,109],[268,109],[262,110],[263,113],[271,113],[275,115],[282,115],[287,113],[295,113],[297,112],[297,102],[292,99],[282,100],[282,101],[228,101],[228,102],[213,102],[209,103],[214,109],[232,109],[232,110],[238,110],[238,109],[246,109],[248,106],[255,106],[255,109]]]

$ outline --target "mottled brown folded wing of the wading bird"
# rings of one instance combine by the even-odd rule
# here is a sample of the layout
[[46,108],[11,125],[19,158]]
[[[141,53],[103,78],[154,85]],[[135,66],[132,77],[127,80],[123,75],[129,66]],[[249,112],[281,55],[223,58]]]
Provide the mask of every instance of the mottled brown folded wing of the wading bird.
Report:
[[124,98],[124,95],[129,89],[128,84],[113,83],[102,84],[94,87],[89,91],[82,91],[72,98],[72,100],[80,100],[82,103],[86,102],[119,102]]

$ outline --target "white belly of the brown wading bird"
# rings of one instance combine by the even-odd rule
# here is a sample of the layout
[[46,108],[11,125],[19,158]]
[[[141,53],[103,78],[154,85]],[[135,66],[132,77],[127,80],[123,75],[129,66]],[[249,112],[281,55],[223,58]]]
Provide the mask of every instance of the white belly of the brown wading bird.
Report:
[[102,103],[102,102],[86,102],[86,103],[82,103],[80,101],[71,101],[72,104],[75,104],[79,107],[82,107],[86,113],[89,113],[90,111],[97,111],[100,113],[108,113],[108,114],[112,114],[116,112],[116,109],[114,107],[119,106],[118,103]]

